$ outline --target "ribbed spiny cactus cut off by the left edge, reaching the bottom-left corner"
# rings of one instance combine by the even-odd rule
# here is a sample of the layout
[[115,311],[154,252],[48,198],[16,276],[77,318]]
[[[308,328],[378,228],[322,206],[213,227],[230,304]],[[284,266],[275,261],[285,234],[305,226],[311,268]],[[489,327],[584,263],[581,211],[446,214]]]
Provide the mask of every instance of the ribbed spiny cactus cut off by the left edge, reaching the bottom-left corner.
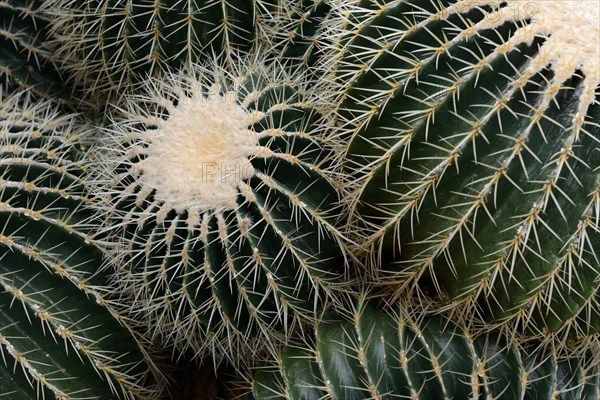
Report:
[[156,396],[156,367],[103,295],[85,153],[54,106],[0,91],[0,398]]

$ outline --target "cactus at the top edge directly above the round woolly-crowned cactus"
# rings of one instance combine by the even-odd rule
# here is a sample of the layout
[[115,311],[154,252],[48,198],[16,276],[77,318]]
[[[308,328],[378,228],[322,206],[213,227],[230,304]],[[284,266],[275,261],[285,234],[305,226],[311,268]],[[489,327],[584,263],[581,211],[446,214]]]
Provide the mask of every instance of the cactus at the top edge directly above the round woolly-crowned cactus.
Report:
[[51,0],[45,9],[54,17],[57,59],[88,94],[112,100],[149,76],[267,42],[293,7],[278,0]]

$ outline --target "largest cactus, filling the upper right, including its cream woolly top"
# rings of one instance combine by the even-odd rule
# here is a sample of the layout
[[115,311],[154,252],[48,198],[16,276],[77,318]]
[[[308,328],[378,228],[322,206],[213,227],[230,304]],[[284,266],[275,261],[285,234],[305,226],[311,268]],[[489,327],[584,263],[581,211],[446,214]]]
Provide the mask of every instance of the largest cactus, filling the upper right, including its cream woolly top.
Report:
[[429,282],[534,334],[596,335],[597,4],[384,3],[342,8],[336,67],[376,279],[396,296]]

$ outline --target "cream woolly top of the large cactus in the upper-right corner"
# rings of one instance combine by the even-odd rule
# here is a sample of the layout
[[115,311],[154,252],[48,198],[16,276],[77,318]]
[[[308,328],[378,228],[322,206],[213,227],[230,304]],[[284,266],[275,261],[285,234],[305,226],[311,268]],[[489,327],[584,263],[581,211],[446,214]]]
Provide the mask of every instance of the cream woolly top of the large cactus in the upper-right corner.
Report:
[[[442,16],[451,15],[466,12],[472,7],[497,4],[499,2],[490,0],[459,0],[440,13]],[[600,1],[508,0],[504,7],[497,7],[477,23],[474,29],[465,30],[459,36],[474,35],[511,21],[520,27],[503,46],[504,52],[521,43],[531,44],[536,37],[545,39],[526,71],[529,76],[546,67],[554,71],[555,76],[545,103],[551,101],[555,89],[577,70],[583,72],[585,85],[574,117],[574,129],[578,130],[594,101],[596,88],[600,86]]]

